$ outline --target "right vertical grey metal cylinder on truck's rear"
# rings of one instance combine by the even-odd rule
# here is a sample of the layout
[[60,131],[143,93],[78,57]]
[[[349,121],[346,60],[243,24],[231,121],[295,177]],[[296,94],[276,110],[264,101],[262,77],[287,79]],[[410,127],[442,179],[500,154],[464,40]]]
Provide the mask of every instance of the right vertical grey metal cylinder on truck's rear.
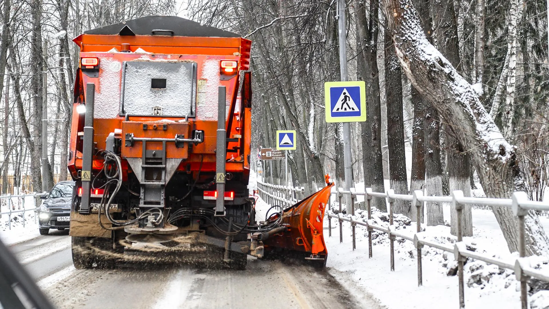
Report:
[[217,145],[215,152],[215,183],[217,199],[215,216],[225,216],[225,161],[227,158],[227,130],[225,128],[226,88],[219,86],[217,100]]

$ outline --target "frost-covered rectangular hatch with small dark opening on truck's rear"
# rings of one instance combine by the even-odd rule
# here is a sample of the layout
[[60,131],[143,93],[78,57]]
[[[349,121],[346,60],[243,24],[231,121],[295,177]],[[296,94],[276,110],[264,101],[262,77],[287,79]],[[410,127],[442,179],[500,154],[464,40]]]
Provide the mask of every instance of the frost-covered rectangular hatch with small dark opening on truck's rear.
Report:
[[196,63],[128,61],[122,79],[121,113],[194,117]]

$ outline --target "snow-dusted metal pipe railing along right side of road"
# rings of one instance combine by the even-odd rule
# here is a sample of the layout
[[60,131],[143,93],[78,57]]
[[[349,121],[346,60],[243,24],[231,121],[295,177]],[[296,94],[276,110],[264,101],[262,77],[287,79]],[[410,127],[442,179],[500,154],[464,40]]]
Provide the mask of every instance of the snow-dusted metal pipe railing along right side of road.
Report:
[[[266,202],[274,205],[273,203],[285,203],[286,205],[294,201],[293,198],[285,198],[285,191],[291,191],[290,187],[276,186],[271,184],[257,182],[258,189],[260,185],[262,187],[271,188],[267,193],[265,190],[259,190],[262,198],[267,198]],[[278,190],[278,191],[277,191]],[[402,195],[395,194],[394,190],[389,189],[386,193],[373,192],[371,188],[366,188],[365,191],[356,191],[354,188],[351,188],[349,191],[343,190],[341,188],[337,190],[332,190],[332,195],[330,195],[330,200],[332,196],[338,199],[339,202],[339,213],[333,214],[329,211],[328,215],[328,230],[329,236],[332,236],[332,220],[331,218],[338,219],[339,222],[339,241],[343,242],[343,221],[351,223],[352,230],[352,250],[356,249],[356,238],[355,238],[355,229],[356,225],[361,225],[368,230],[368,256],[372,257],[372,231],[378,230],[382,233],[389,235],[390,240],[390,268],[391,271],[395,270],[395,246],[394,241],[396,237],[413,241],[417,249],[417,280],[418,286],[422,285],[423,275],[422,275],[422,248],[423,246],[433,247],[442,251],[453,253],[457,263],[458,263],[458,284],[459,284],[459,294],[460,294],[460,308],[465,307],[465,297],[464,297],[464,279],[463,279],[463,265],[468,257],[474,258],[475,260],[484,261],[489,264],[495,264],[501,268],[512,269],[516,275],[517,280],[520,281],[520,301],[523,309],[528,308],[528,290],[527,283],[529,278],[537,278],[545,282],[549,282],[549,273],[539,271],[530,266],[528,260],[526,259],[526,232],[524,225],[524,216],[529,210],[535,211],[549,211],[549,203],[530,201],[526,192],[514,192],[512,198],[486,198],[486,197],[465,197],[463,196],[462,191],[453,191],[451,196],[424,196],[421,190],[416,190],[412,195]],[[349,196],[351,199],[351,205],[354,205],[354,201],[357,196],[364,196],[366,201],[366,207],[368,212],[368,219],[366,222],[361,220],[356,220],[355,218],[355,209],[351,208],[351,218],[343,216],[341,213],[341,198],[343,196]],[[372,220],[372,209],[371,201],[373,198],[384,198],[389,205],[389,226],[381,227],[376,225]],[[416,223],[416,233],[401,233],[396,231],[395,226],[393,225],[393,203],[396,200],[411,201],[412,206],[416,207],[418,214],[417,223]],[[452,203],[452,206],[455,207],[457,211],[457,242],[453,246],[439,244],[437,242],[428,241],[423,238],[421,232],[421,216],[422,209],[425,202],[439,202],[439,203]],[[486,206],[496,206],[496,207],[508,207],[511,208],[513,214],[518,218],[518,250],[519,258],[514,261],[504,261],[499,258],[490,257],[485,254],[477,253],[474,251],[467,250],[466,244],[463,242],[462,227],[463,227],[463,206],[464,205],[486,205]],[[330,203],[331,207],[331,203]]]

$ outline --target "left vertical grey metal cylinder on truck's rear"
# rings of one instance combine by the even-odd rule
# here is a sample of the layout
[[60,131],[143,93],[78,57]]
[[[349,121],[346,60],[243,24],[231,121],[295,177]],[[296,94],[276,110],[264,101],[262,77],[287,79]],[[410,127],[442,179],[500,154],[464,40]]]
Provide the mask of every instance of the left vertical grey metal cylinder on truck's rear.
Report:
[[82,146],[82,200],[80,213],[89,214],[89,197],[92,189],[93,163],[93,101],[96,85],[86,84],[86,114],[84,120],[84,141]]

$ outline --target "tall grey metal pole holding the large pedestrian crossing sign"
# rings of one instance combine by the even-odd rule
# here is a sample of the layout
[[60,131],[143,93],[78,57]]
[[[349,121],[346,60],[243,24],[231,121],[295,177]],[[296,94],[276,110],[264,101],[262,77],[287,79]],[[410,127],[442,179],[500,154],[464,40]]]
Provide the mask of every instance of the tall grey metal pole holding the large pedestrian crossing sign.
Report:
[[[549,1],[549,0],[548,0]],[[339,28],[339,72],[341,81],[348,81],[347,73],[347,33],[345,28],[345,1],[338,0],[338,28]],[[345,166],[345,190],[349,190],[352,184],[351,165],[351,125],[343,123],[343,161]],[[351,201],[349,198],[348,201]],[[348,203],[349,205],[349,203]],[[353,207],[351,205],[351,207]]]

